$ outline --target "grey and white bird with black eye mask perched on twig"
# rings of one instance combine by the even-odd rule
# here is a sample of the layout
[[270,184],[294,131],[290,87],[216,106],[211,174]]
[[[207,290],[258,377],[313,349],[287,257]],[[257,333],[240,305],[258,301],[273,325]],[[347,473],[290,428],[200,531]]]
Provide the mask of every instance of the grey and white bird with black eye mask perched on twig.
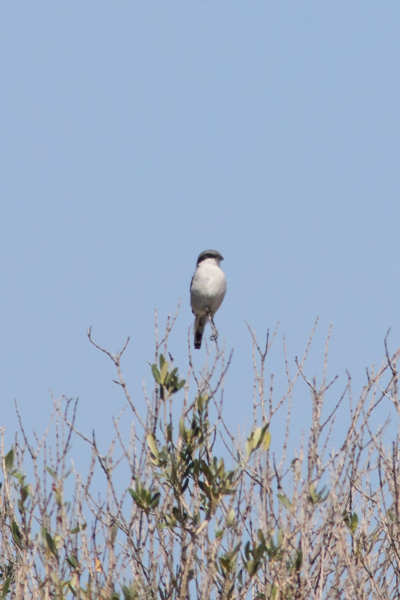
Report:
[[224,258],[218,250],[204,250],[197,259],[196,271],[190,284],[190,304],[194,319],[194,347],[199,350],[203,339],[204,326],[209,320],[212,335],[216,340],[218,331],[213,317],[222,304],[226,292],[225,274],[219,263]]

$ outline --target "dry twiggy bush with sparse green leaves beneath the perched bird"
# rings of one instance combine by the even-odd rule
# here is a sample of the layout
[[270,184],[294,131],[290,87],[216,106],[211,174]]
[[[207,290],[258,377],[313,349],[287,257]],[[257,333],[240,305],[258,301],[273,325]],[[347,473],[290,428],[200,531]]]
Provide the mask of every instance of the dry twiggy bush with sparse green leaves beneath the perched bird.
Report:
[[[77,430],[77,404],[67,398],[54,402],[43,439],[29,441],[20,419],[23,441],[17,436],[7,449],[1,431],[0,598],[399,598],[399,439],[388,445],[386,424],[373,424],[389,406],[400,416],[400,350],[386,349],[356,401],[348,377],[323,419],[332,383],[327,344],[321,385],[306,373],[310,338],[293,378],[285,358],[287,389],[276,399],[266,375],[272,341],[261,350],[251,332],[254,424],[240,440],[224,423],[230,357],[213,347],[200,375],[190,357],[187,382],[180,379],[167,348],[173,322],[156,339],[145,415],[124,382],[125,348],[113,355],[88,332],[115,364],[133,413],[129,439],[119,430],[125,413],[115,420],[106,455],[94,435]],[[299,387],[309,389],[312,425],[291,449]],[[343,441],[333,449],[344,406],[348,425],[339,424]],[[286,422],[280,441],[273,439],[278,419]],[[71,460],[75,436],[91,454],[85,477]],[[95,478],[103,482],[99,494]]]

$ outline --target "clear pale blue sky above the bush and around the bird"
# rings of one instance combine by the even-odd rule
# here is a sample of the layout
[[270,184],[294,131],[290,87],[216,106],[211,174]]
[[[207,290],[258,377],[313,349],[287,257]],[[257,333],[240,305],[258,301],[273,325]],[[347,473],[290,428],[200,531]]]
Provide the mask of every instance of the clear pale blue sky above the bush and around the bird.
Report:
[[[251,338],[279,322],[294,372],[333,322],[332,403],[400,344],[397,2],[2,2],[1,425],[44,429],[62,394],[103,436],[111,351],[151,388],[160,328],[186,374],[197,255],[225,257],[225,407],[251,421]],[[196,354],[200,368],[204,348]],[[311,413],[304,390],[299,414]],[[130,418],[130,417],[129,417]],[[384,419],[383,419],[384,420]],[[306,421],[304,426],[306,426]],[[28,429],[29,429],[28,427]]]

